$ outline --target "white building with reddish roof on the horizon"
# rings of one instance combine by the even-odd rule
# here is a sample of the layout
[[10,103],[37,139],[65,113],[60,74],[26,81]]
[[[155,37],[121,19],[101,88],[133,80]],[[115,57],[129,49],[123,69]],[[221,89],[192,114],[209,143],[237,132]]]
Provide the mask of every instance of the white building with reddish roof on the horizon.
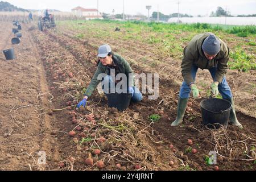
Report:
[[86,19],[103,19],[97,9],[84,9],[83,7],[77,6],[72,9],[72,13],[78,17],[85,16]]

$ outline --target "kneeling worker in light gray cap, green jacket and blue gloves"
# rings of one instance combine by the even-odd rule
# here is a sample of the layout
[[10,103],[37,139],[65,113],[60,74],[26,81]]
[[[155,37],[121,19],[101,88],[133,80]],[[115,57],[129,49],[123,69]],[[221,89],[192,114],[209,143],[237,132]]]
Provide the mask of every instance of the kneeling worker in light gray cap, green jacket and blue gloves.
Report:
[[[139,102],[142,100],[141,92],[139,92],[139,89],[134,86],[133,69],[131,69],[130,64],[125,59],[123,59],[120,55],[114,54],[108,44],[102,45],[100,46],[100,48],[98,48],[97,57],[99,57],[100,59],[98,61],[98,68],[94,73],[94,76],[92,78],[92,81],[90,82],[89,87],[86,89],[84,99],[81,102],[79,102],[77,107],[85,107],[88,97],[92,95],[93,90],[100,83],[100,80],[98,80],[98,76],[101,73],[106,74],[106,76],[104,77],[104,82],[108,82],[108,84],[113,87],[115,87],[118,81],[114,81],[112,76],[110,76],[110,73],[114,72],[114,76],[117,76],[119,73],[125,74],[127,78],[126,88],[128,85],[129,93],[132,94],[131,101]],[[104,85],[104,92],[108,93],[108,86],[105,86],[106,85]]]

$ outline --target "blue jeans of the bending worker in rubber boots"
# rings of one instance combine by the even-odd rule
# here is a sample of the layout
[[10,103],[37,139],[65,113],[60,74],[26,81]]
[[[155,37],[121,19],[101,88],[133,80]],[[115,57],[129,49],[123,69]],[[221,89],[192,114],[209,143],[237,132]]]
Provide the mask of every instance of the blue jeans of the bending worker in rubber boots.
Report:
[[[196,65],[192,65],[191,74],[193,80],[196,80],[196,72],[198,67]],[[212,75],[212,78],[214,79],[215,73],[217,72],[217,67],[213,67],[209,69],[210,75]],[[182,82],[182,85],[180,87],[180,98],[189,98],[189,94],[191,92],[191,88],[188,86],[189,83],[186,83],[185,81]],[[227,99],[232,97],[232,92],[230,90],[230,87],[228,85],[228,82],[226,81],[226,77],[222,79],[220,84],[218,84],[218,91],[220,92],[222,98]]]

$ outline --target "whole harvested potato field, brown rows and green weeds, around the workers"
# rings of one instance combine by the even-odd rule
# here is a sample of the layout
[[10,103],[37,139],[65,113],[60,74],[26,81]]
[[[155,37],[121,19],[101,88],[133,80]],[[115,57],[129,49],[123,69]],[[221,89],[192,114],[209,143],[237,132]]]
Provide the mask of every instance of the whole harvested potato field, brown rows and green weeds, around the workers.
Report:
[[[17,45],[12,28],[0,23],[0,48],[14,47],[16,56],[0,56],[0,170],[256,170],[255,26],[65,20],[40,32],[31,22],[22,23]],[[226,78],[243,127],[203,127],[200,102],[209,98],[212,78],[201,69],[201,98],[189,98],[183,123],[172,127],[183,48],[209,31],[230,48]],[[135,73],[159,74],[156,100],[148,91],[119,112],[96,89],[85,109],[76,108],[106,43]]]

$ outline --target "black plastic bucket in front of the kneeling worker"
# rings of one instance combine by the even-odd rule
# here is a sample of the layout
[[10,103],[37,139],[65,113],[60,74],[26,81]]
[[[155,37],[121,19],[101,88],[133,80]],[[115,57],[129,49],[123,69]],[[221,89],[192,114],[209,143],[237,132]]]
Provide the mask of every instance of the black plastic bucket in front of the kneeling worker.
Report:
[[127,109],[131,101],[131,93],[109,93],[106,97],[109,107],[115,107],[119,111]]

